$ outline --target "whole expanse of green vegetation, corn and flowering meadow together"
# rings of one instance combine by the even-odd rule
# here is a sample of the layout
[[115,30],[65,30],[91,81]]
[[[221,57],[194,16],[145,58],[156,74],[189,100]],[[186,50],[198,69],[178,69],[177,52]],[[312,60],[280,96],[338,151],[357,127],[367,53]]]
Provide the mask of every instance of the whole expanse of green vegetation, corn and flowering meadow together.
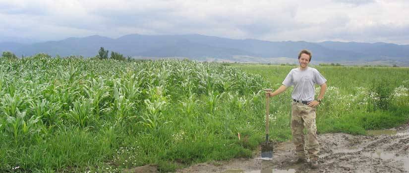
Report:
[[[0,59],[0,172],[162,172],[252,157],[263,88],[293,66],[189,60]],[[328,80],[318,132],[364,134],[409,119],[409,68],[317,66]],[[291,138],[290,93],[271,99],[270,136]],[[241,134],[241,139],[237,137]]]

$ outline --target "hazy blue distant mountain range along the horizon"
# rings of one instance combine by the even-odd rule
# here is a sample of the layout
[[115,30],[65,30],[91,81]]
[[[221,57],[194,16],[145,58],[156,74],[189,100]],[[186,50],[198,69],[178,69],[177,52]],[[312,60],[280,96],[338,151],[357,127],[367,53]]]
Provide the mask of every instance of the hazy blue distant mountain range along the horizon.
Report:
[[[234,40],[203,35],[125,35],[111,39],[98,35],[68,38],[43,43],[0,43],[0,51],[17,56],[44,52],[52,56],[93,57],[100,47],[125,56],[139,58],[186,57],[197,60],[239,62],[296,62],[298,52],[312,51],[312,62],[365,64],[377,62],[409,66],[409,45],[356,42],[269,42],[254,39]],[[283,60],[284,58],[284,60]]]

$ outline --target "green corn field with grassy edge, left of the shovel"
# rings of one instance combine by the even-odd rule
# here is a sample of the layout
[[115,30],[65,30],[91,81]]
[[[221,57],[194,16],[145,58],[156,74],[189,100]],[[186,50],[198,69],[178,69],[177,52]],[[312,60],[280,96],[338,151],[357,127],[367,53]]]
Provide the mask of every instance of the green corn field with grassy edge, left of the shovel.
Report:
[[[237,125],[262,127],[257,122],[263,116],[244,112],[257,104],[262,115],[259,91],[266,82],[221,64],[41,54],[3,58],[0,64],[0,171],[18,167],[21,172],[77,172],[102,164],[99,167],[109,168],[104,171],[115,172],[158,159],[188,164],[206,159],[207,153],[189,158],[176,152],[179,145],[212,140],[220,142],[215,145],[231,144],[238,128],[245,128]],[[233,143],[237,150],[250,152]],[[118,161],[120,147],[139,148],[135,152],[140,153],[131,153],[138,158]],[[153,150],[157,153],[150,153]]]

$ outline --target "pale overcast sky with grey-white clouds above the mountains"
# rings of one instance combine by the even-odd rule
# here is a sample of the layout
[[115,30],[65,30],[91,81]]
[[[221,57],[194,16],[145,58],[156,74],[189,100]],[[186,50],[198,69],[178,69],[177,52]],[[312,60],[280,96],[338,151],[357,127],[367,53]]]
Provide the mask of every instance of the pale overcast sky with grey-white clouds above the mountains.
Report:
[[409,44],[409,0],[299,1],[0,0],[0,39],[202,34]]

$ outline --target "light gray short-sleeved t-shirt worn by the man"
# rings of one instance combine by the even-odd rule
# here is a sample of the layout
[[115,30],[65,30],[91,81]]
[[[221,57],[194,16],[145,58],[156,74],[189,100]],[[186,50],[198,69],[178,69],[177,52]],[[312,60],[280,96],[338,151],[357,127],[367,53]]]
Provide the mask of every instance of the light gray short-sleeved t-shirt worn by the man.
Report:
[[311,101],[314,100],[314,84],[322,85],[327,80],[318,72],[317,69],[307,67],[305,70],[299,68],[292,69],[283,81],[286,87],[294,86],[291,97],[296,100]]

